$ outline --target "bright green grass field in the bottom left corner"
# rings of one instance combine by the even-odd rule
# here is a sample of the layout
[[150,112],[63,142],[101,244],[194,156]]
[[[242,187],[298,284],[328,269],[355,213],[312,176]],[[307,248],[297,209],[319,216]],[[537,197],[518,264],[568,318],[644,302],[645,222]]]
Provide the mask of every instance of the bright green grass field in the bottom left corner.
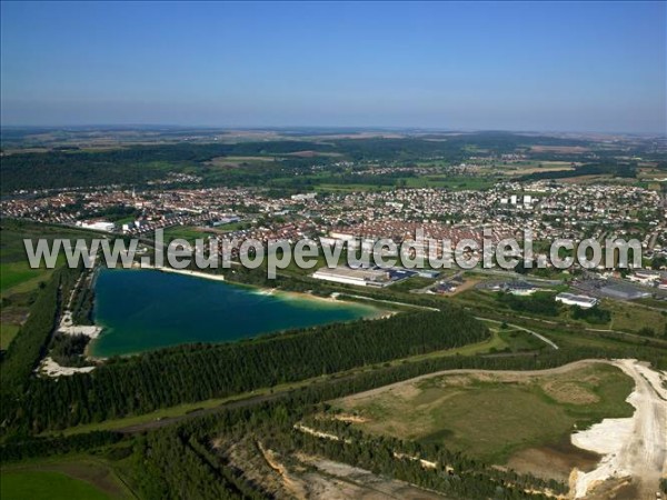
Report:
[[4,500],[106,500],[111,497],[92,484],[62,472],[2,472],[0,497]]

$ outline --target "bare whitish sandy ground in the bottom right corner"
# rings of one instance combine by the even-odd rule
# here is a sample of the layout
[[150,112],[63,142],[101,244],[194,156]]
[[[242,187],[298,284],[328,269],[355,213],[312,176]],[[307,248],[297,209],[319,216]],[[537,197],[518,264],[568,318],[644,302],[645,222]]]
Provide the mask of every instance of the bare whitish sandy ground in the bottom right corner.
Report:
[[575,471],[575,498],[586,497],[607,479],[631,477],[638,500],[653,499],[667,474],[667,388],[663,384],[667,372],[633,359],[613,363],[635,380],[627,401],[636,411],[630,418],[605,419],[571,436],[576,447],[603,454],[595,470]]

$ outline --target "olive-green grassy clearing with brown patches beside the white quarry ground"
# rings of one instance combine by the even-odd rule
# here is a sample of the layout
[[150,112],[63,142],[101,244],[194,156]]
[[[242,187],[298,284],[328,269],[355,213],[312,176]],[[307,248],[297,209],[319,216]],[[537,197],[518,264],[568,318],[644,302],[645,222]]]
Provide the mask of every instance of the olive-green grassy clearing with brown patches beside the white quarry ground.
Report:
[[625,402],[631,388],[616,367],[574,363],[544,372],[455,370],[331,404],[371,433],[442,443],[519,471],[545,474],[552,468],[552,478],[563,480],[573,467],[585,470],[596,461],[574,448],[569,434],[604,418],[631,416]]

